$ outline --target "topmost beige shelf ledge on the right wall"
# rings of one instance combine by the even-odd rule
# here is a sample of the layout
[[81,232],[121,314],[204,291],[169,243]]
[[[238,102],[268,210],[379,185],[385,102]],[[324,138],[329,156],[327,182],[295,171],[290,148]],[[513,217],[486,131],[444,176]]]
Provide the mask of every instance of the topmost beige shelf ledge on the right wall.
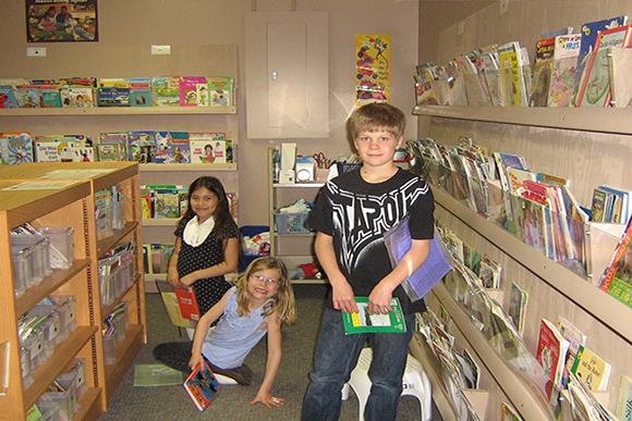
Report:
[[630,110],[624,108],[417,106],[413,109],[413,114],[582,132],[632,134]]

